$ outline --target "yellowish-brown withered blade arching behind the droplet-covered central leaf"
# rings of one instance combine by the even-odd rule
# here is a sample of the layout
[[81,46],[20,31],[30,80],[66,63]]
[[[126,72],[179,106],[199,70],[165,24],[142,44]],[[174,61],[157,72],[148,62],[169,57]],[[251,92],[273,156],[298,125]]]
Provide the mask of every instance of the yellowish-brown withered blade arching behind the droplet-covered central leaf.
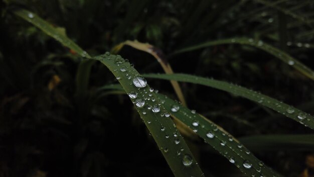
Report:
[[[122,42],[122,43],[114,46],[111,50],[112,53],[113,54],[118,53],[124,45],[128,45],[128,46],[131,46],[137,50],[141,50],[141,51],[144,51],[144,52],[151,54],[161,64],[161,66],[163,67],[164,71],[167,74],[174,73],[174,71],[171,68],[171,65],[167,61],[167,59],[166,59],[166,57],[165,57],[165,55],[161,49],[156,48],[153,45],[150,45],[148,43],[141,43],[138,41],[127,40],[125,42]],[[178,96],[178,99],[181,101],[182,105],[186,106],[187,104],[186,104],[186,101],[184,99],[184,96],[183,96],[183,93],[182,93],[182,90],[181,90],[179,83],[177,81],[174,81],[174,80],[171,80],[170,82],[171,82],[172,86],[174,87],[174,90]]]

